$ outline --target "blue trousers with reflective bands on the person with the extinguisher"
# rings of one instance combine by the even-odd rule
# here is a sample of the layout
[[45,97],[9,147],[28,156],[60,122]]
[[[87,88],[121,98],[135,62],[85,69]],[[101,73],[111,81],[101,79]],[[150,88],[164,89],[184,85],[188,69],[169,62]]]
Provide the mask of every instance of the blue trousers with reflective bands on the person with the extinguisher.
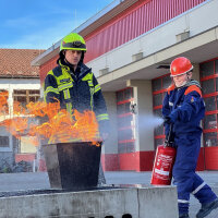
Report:
[[172,169],[173,184],[178,189],[179,213],[189,213],[190,194],[201,204],[210,203],[217,198],[211,189],[195,173],[201,148],[201,134],[180,135],[174,138],[177,157]]

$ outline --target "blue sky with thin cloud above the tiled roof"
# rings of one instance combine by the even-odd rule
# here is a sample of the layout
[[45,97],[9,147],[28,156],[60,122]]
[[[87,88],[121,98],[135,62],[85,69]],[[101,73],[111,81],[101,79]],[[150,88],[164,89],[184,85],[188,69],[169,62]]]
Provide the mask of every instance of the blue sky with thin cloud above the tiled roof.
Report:
[[0,0],[0,48],[48,49],[113,0]]

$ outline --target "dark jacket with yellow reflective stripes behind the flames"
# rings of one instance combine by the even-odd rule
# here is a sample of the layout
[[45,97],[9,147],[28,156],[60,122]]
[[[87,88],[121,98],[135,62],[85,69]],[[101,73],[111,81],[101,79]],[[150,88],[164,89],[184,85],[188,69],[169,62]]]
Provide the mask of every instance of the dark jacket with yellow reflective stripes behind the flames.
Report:
[[92,69],[78,64],[76,72],[59,61],[59,65],[49,71],[45,80],[45,101],[60,101],[61,108],[69,112],[93,110],[99,123],[100,132],[108,132],[109,116],[98,84]]

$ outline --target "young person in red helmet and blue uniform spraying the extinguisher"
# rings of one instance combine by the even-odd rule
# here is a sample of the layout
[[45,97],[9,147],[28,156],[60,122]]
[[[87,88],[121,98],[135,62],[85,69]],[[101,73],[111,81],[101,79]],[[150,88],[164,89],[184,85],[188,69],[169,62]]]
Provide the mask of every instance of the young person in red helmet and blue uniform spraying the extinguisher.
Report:
[[179,217],[189,218],[190,194],[202,204],[196,218],[204,218],[218,207],[218,198],[211,189],[195,173],[201,149],[205,104],[201,85],[192,78],[193,65],[184,57],[175,58],[170,65],[173,80],[162,104],[166,138],[172,125],[175,162],[172,170],[173,183],[178,189]]

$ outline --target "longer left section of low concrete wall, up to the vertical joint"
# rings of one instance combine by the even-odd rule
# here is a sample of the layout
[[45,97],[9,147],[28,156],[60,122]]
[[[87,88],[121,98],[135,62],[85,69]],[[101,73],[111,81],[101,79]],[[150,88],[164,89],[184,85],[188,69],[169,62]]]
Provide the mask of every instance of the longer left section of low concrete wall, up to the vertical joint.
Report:
[[113,189],[0,198],[2,218],[121,218],[138,217],[137,190]]

